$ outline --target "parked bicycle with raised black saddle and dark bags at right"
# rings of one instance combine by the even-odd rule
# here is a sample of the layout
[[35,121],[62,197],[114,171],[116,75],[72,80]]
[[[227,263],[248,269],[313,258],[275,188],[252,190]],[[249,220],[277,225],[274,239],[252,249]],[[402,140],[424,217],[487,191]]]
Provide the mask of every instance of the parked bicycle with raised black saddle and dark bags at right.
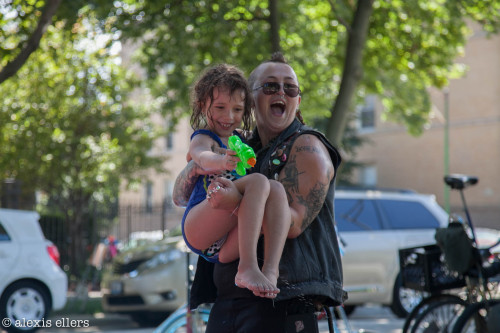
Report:
[[[425,279],[420,281],[416,287],[431,292],[431,296],[425,298],[410,313],[405,321],[403,333],[450,332],[452,328],[458,326],[460,315],[465,312],[464,310],[469,304],[476,304],[487,298],[489,293],[488,279],[500,272],[500,262],[494,262],[486,267],[488,263],[484,259],[489,256],[489,250],[498,245],[500,241],[486,249],[478,249],[474,227],[463,194],[463,189],[475,185],[478,179],[465,175],[449,175],[444,180],[451,189],[460,191],[470,236],[465,232],[464,225],[450,216],[447,228],[449,231],[443,229],[440,235],[436,235],[436,238],[440,237],[443,242],[446,239],[446,236],[443,235],[446,233],[460,235],[461,240],[465,242],[462,246],[463,253],[470,256],[470,261],[454,260],[453,253],[447,251],[446,248],[444,248],[443,258],[442,249],[438,245],[423,247],[427,252],[424,251],[421,257],[424,260],[420,263],[423,263],[426,268],[423,272]],[[451,229],[452,227],[455,229]],[[412,264],[411,258],[415,254],[414,250],[415,248],[400,250],[401,269],[402,272],[407,273],[406,275],[408,275],[408,268]],[[464,263],[467,265],[463,265]],[[462,294],[441,293],[444,290],[455,288],[463,288]]]

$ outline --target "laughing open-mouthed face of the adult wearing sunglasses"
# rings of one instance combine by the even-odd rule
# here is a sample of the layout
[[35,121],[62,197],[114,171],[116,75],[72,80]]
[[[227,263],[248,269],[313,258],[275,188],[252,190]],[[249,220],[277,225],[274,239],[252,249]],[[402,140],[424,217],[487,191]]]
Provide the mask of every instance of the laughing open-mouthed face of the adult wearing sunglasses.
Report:
[[[298,87],[299,83],[297,75],[287,64],[264,63],[257,70],[256,80],[252,87],[255,119],[261,139],[268,141],[278,136],[295,119],[295,113],[300,104],[300,95],[291,97],[285,93],[284,87]],[[266,95],[262,88],[266,83],[278,83],[279,90]]]

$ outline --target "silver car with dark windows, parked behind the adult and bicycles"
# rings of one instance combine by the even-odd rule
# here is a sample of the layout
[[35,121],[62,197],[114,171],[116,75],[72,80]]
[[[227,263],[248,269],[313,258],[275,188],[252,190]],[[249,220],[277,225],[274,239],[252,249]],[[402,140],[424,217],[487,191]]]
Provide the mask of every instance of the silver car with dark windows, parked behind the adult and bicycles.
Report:
[[[335,195],[335,217],[344,243],[346,311],[357,305],[387,305],[405,317],[422,293],[402,287],[399,249],[435,244],[436,228],[448,214],[435,196],[408,190],[343,190]],[[497,230],[476,228],[480,245],[500,238]]]

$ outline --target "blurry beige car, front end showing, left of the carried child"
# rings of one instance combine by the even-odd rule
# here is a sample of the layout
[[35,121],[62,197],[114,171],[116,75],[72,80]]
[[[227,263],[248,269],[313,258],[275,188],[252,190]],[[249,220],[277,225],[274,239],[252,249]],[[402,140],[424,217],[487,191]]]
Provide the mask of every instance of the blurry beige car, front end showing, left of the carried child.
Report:
[[[182,236],[122,251],[103,281],[103,310],[130,315],[141,326],[159,324],[186,301],[187,257]],[[197,257],[190,255],[190,264]]]

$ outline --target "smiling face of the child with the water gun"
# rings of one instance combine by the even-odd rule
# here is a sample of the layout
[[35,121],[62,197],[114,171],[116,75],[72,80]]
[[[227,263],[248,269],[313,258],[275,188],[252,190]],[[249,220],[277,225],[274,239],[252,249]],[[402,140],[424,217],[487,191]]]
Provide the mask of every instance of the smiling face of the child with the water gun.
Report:
[[[209,109],[210,108],[210,109]],[[240,127],[245,110],[245,93],[236,90],[230,95],[229,89],[215,88],[212,105],[207,101],[203,112],[210,130],[219,137],[229,137]]]

